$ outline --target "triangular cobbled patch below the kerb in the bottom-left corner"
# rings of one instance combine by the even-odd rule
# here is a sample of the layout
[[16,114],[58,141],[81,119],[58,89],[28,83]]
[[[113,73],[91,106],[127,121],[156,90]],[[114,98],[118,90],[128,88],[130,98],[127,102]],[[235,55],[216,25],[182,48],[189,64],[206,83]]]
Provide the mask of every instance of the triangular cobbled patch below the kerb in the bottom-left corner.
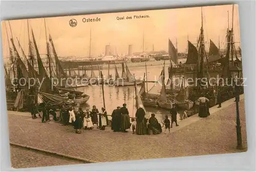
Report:
[[78,161],[38,153],[26,148],[10,146],[13,168],[31,168],[56,165],[78,164]]

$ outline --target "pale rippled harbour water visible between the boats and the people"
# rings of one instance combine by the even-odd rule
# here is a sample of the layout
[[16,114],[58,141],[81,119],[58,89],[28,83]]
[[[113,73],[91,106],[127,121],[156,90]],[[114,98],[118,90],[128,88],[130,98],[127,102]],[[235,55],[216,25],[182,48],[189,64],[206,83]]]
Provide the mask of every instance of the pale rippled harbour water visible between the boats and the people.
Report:
[[[147,67],[147,80],[157,80],[162,70],[162,66],[149,66]],[[143,67],[134,67],[130,68],[132,74],[135,76],[143,77],[145,68]],[[165,77],[168,77],[168,66],[165,66]],[[119,75],[121,75],[121,71],[118,71]],[[103,75],[108,74],[108,70],[102,70]],[[82,74],[82,71],[80,71]],[[90,76],[91,72],[88,72]],[[98,72],[95,71],[95,74],[98,75]],[[114,69],[110,70],[110,74],[114,77],[115,71]],[[174,76],[174,78],[179,78],[179,75]],[[187,75],[186,77],[193,77],[193,74]],[[181,76],[182,78],[182,76]],[[187,84],[187,83],[185,83]],[[154,83],[148,83],[148,90],[153,87]],[[140,89],[140,85],[138,85],[138,89]],[[84,93],[90,96],[87,104],[84,104],[83,107],[90,107],[92,108],[93,105],[100,110],[103,107],[103,95],[102,95],[102,87],[101,85],[94,85],[88,87],[81,87],[78,90],[83,91]],[[159,94],[158,90],[156,89],[156,93]],[[105,106],[106,111],[109,115],[112,114],[112,111],[116,109],[117,106],[122,106],[123,103],[127,104],[127,109],[129,110],[130,117],[135,117],[136,113],[136,102],[135,102],[135,90],[134,86],[126,86],[126,87],[111,87],[108,85],[104,86],[104,98],[105,98]],[[151,114],[155,113],[156,118],[160,121],[164,120],[164,116],[169,114],[168,111],[165,110],[157,110],[151,107],[145,107],[146,111]],[[179,119],[179,117],[177,117]]]

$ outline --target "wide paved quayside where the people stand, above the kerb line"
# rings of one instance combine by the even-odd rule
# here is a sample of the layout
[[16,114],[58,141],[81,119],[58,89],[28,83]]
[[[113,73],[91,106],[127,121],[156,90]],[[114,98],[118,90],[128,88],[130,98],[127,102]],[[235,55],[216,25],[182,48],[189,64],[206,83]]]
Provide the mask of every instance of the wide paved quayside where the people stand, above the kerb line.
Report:
[[[244,150],[236,149],[236,103],[230,100],[224,106],[209,118],[193,116],[181,121],[170,134],[145,136],[113,133],[109,127],[106,131],[94,129],[75,134],[72,126],[53,121],[41,123],[28,113],[8,112],[9,137],[13,143],[99,162],[244,152],[244,100],[239,106]],[[186,122],[189,120],[192,122]]]

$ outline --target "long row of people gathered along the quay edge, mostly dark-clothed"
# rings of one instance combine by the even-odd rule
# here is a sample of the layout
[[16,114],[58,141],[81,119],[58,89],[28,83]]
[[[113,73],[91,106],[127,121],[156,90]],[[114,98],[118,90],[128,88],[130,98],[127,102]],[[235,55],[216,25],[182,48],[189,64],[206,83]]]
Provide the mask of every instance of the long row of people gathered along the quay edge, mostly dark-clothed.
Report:
[[[63,123],[63,125],[73,125],[75,133],[80,134],[82,128],[84,130],[92,130],[94,125],[97,126],[99,130],[105,130],[105,127],[109,125],[108,115],[104,107],[101,108],[101,112],[93,105],[92,110],[86,109],[82,110],[81,107],[62,105],[59,110],[59,115],[56,114],[56,110],[49,103],[40,103],[39,105],[31,105],[31,115],[33,119],[36,119],[36,114],[42,118],[41,122],[50,121],[50,115],[53,116],[55,121]],[[172,123],[168,120],[168,116],[164,120],[165,131],[166,129],[173,126],[173,122],[177,124],[177,111],[174,105],[173,109],[170,111],[172,114]],[[40,115],[42,114],[42,116]],[[145,118],[145,111],[143,105],[139,105],[139,109],[136,112],[136,117],[132,118],[130,122],[129,111],[124,103],[122,107],[118,106],[112,112],[111,130],[114,132],[127,132],[132,126],[133,134],[137,135],[147,135],[147,134],[160,134],[162,133],[162,126],[155,117],[155,114],[151,114],[150,119]]]

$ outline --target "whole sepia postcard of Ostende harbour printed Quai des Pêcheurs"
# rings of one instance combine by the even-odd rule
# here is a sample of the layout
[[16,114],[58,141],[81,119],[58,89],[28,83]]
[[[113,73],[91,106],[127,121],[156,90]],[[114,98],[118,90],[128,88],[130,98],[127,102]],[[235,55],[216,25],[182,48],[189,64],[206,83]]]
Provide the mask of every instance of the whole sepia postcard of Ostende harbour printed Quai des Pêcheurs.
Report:
[[238,5],[1,27],[12,167],[247,150]]

